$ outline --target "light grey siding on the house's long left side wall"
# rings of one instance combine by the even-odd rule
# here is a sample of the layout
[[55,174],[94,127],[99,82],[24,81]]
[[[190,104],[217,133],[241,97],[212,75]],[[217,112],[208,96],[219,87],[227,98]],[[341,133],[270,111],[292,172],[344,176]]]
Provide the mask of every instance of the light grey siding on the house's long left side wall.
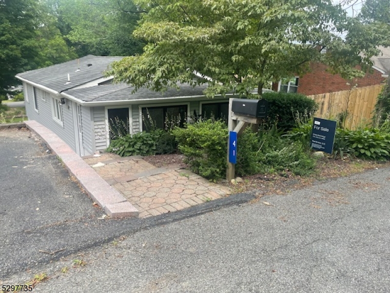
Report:
[[55,134],[59,136],[68,146],[70,146],[74,151],[76,151],[76,142],[75,142],[75,129],[73,124],[73,109],[72,104],[69,100],[65,99],[66,103],[61,105],[62,107],[62,119],[63,126],[60,126],[57,122],[53,120],[52,113],[52,98],[47,93],[48,99],[46,102],[42,100],[44,92],[37,88],[37,103],[38,110],[34,109],[34,99],[33,99],[33,86],[27,84],[27,95],[29,97],[29,102],[26,102],[26,113],[29,120],[35,120],[39,122],[41,125],[49,128]]

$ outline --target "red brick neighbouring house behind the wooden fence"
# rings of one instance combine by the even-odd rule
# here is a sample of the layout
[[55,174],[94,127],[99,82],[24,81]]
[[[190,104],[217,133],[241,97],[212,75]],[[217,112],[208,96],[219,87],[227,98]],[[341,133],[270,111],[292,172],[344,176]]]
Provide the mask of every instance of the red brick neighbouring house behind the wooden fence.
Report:
[[323,63],[310,63],[310,72],[303,76],[296,76],[290,82],[273,84],[273,90],[297,92],[309,96],[349,90],[355,84],[357,87],[381,84],[385,82],[390,72],[390,47],[381,47],[381,51],[381,55],[371,59],[374,63],[372,71],[366,73],[363,78],[353,80],[352,83],[343,79],[339,74],[329,73],[327,65]]

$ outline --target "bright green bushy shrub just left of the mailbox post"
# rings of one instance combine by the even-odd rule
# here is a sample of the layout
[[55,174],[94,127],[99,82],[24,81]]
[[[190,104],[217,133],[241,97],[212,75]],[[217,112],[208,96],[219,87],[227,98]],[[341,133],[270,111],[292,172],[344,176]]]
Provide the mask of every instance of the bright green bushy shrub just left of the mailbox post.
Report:
[[172,133],[193,172],[208,179],[225,175],[228,129],[224,122],[199,121],[187,128],[176,127]]

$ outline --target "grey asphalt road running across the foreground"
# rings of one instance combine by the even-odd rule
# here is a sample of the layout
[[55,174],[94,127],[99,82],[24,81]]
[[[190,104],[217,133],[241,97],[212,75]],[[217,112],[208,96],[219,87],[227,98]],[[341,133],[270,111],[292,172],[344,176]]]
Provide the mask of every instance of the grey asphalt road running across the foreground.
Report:
[[389,210],[390,169],[372,170],[127,232],[3,284],[45,272],[34,292],[389,293]]

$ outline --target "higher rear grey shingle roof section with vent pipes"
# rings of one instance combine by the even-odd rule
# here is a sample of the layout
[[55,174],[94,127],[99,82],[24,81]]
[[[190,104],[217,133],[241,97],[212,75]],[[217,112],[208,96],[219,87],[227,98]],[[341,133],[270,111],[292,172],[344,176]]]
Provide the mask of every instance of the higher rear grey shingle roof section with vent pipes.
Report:
[[[17,76],[61,92],[103,77],[109,65],[122,58],[88,55],[65,63],[19,73]],[[68,74],[70,84],[66,84]]]

